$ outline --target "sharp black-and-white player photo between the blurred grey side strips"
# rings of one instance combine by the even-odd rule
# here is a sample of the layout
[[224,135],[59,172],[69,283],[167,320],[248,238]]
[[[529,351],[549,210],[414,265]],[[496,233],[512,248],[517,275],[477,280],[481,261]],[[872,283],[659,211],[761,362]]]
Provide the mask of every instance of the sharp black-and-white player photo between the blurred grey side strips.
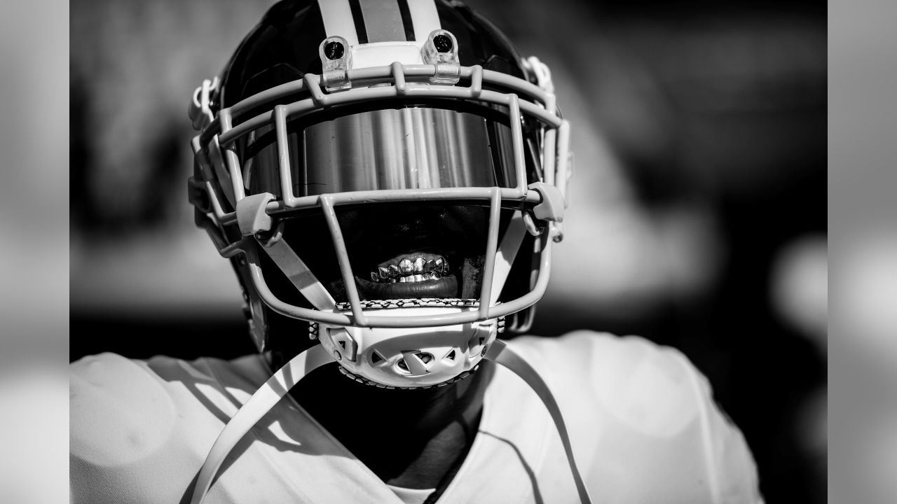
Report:
[[71,503],[830,501],[822,4],[70,9]]

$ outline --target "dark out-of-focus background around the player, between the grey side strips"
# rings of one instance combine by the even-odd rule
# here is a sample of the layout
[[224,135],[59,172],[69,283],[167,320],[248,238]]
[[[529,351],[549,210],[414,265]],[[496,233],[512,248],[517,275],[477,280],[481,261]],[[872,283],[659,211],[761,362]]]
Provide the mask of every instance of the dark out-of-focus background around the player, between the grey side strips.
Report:
[[[187,204],[187,102],[270,4],[71,3],[70,360],[253,351],[230,265]],[[767,502],[826,501],[826,8],[467,4],[550,65],[573,126],[533,332],[681,349],[744,431]]]

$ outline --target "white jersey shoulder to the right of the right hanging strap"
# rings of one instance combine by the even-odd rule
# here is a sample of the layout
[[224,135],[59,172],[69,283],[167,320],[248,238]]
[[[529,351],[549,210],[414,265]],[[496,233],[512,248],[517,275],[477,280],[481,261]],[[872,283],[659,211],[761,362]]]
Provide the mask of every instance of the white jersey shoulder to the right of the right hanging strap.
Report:
[[[593,495],[597,500],[625,495],[625,501],[654,501],[666,495],[762,501],[744,437],[682,352],[637,336],[591,331],[512,343],[543,373],[570,417],[577,453],[587,452],[578,457],[587,470],[598,471],[593,481],[601,484],[591,487],[601,489]],[[601,467],[621,474],[608,482]]]

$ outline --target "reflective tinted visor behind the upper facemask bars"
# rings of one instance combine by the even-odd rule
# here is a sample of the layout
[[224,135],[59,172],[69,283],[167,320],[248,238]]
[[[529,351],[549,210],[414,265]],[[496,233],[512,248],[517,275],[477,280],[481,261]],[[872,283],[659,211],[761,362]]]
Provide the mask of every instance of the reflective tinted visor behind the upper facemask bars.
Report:
[[[405,107],[288,126],[294,196],[438,187],[516,187],[507,115]],[[502,121],[503,119],[503,121]],[[279,194],[274,132],[251,135],[250,191]],[[253,143],[254,139],[258,139]]]

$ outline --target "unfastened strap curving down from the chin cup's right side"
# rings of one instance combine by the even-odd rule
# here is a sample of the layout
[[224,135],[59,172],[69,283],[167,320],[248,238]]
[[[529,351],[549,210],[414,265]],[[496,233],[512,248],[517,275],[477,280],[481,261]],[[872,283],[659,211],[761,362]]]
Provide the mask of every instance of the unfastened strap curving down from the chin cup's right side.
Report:
[[567,433],[567,425],[563,421],[561,408],[558,407],[557,401],[554,400],[554,395],[551,389],[548,388],[548,385],[545,384],[544,379],[539,376],[536,369],[529,365],[529,362],[524,361],[517,352],[511,350],[508,344],[501,340],[492,342],[484,358],[501,364],[513,371],[518,377],[523,378],[523,381],[527,382],[527,385],[542,399],[542,403],[548,409],[548,413],[552,415],[554,426],[557,427],[558,433],[561,434],[561,443],[564,452],[567,454],[567,462],[570,463],[570,471],[573,473],[573,481],[576,482],[579,500],[583,504],[591,504],[592,500],[588,496],[586,483],[582,481],[582,474],[579,474],[576,459],[573,458],[573,447],[570,445],[570,435]]

